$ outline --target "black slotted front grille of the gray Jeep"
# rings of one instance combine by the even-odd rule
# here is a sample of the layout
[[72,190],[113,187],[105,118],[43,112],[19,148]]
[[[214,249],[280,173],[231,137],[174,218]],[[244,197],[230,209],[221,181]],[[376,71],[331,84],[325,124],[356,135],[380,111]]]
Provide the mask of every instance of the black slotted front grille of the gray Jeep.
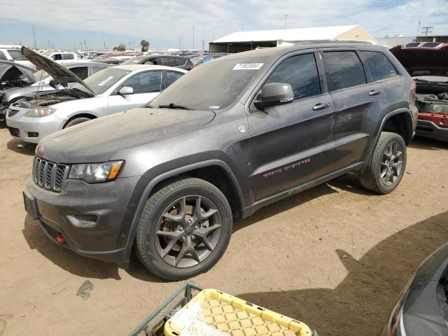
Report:
[[39,187],[60,193],[62,183],[68,174],[69,166],[34,157],[33,180]]

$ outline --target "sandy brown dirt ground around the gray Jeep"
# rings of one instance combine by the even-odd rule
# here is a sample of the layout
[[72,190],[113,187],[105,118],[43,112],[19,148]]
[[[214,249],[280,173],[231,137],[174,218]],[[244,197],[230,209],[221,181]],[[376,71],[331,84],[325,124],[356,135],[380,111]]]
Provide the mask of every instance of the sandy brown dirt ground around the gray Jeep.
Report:
[[[125,335],[180,282],[80,257],[27,217],[34,146],[0,129],[0,335]],[[415,139],[390,195],[342,176],[235,223],[230,246],[193,279],[304,321],[319,335],[379,335],[419,263],[448,240],[448,146]],[[76,296],[89,280],[87,300]]]

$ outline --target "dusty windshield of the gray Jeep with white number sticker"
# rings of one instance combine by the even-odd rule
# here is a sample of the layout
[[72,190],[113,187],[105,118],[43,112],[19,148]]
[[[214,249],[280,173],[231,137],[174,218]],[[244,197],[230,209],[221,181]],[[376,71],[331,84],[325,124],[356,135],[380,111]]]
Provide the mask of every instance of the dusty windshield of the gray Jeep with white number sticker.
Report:
[[205,63],[162,91],[151,106],[174,104],[200,111],[225,109],[246,90],[267,59],[222,59]]

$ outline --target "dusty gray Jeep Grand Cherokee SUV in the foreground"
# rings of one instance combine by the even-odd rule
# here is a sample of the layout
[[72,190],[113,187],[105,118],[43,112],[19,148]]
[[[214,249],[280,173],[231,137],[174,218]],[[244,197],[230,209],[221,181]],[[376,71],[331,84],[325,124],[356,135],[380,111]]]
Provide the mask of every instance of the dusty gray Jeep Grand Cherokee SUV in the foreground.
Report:
[[347,172],[394,190],[415,86],[385,48],[309,43],[218,58],[151,104],[46,137],[25,207],[57,244],[165,279],[207,271],[232,218]]

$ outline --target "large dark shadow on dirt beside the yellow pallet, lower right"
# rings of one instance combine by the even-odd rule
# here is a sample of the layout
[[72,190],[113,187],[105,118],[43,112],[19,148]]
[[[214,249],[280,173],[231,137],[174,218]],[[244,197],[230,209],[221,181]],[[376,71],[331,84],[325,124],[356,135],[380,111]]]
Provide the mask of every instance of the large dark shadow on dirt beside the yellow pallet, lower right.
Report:
[[447,240],[448,211],[384,239],[360,260],[336,250],[348,275],[335,289],[274,288],[263,293],[235,294],[303,321],[321,336],[380,335],[409,277],[426,256]]

